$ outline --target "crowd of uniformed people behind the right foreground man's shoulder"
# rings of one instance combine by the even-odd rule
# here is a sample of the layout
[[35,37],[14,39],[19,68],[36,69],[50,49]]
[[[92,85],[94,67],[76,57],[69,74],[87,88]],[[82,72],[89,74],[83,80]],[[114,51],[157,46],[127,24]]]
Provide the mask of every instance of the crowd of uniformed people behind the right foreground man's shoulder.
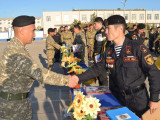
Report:
[[138,25],[134,24],[132,29],[126,29],[126,37],[143,43],[146,47],[149,47],[149,50],[154,52],[155,55],[158,55],[160,52],[160,26],[158,26],[156,30],[154,28],[147,30],[143,23]]

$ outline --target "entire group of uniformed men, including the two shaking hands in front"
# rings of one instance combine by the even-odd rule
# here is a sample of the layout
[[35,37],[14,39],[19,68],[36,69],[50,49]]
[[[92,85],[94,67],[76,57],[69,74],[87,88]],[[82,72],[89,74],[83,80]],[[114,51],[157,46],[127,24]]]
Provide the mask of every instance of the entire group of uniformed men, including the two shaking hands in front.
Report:
[[[153,113],[158,108],[160,71],[150,53],[155,43],[155,54],[159,52],[160,27],[145,32],[145,24],[134,25],[126,31],[126,21],[120,15],[113,15],[103,21],[97,17],[94,25],[82,29],[74,25],[48,29],[46,49],[48,69],[40,68],[32,59],[25,46],[35,37],[35,17],[18,16],[13,22],[14,38],[7,44],[0,58],[0,119],[31,120],[32,108],[29,91],[34,82],[75,87],[98,77],[99,85],[108,85],[122,106],[127,106],[141,117],[146,110]],[[96,30],[94,30],[93,29]],[[126,31],[126,32],[125,32]],[[147,49],[149,38],[149,49]],[[88,56],[94,63],[83,74],[62,75],[52,72],[54,55],[67,44],[68,49],[78,53],[86,65]],[[74,47],[77,49],[73,49]],[[56,51],[57,49],[57,51]],[[88,52],[89,51],[89,52]],[[56,61],[60,58],[56,58]],[[149,91],[145,86],[148,77]]]

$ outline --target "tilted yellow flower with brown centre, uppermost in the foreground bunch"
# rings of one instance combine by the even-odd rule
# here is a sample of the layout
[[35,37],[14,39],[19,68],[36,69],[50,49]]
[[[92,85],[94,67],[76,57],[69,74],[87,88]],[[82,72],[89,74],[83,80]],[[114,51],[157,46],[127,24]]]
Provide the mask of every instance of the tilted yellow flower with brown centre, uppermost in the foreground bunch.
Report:
[[75,96],[74,101],[73,101],[75,109],[79,109],[81,107],[84,98],[85,98],[85,96],[83,95],[83,92],[77,93],[77,95]]

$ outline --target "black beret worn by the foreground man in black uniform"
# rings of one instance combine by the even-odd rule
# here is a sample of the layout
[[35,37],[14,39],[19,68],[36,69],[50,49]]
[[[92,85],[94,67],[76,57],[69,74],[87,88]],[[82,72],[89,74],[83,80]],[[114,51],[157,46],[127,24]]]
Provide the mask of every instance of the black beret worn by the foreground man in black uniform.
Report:
[[105,26],[107,25],[115,25],[115,24],[124,24],[126,25],[126,21],[124,17],[120,15],[112,15],[107,20],[105,20]]

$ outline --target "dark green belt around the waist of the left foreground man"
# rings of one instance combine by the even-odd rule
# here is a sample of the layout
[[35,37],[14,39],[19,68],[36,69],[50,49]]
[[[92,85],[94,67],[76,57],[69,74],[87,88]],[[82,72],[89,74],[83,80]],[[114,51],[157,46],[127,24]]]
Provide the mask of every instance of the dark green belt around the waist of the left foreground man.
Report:
[[2,92],[2,91],[0,92],[0,97],[8,101],[23,100],[28,98],[28,96],[29,96],[29,92],[17,93],[17,94]]

